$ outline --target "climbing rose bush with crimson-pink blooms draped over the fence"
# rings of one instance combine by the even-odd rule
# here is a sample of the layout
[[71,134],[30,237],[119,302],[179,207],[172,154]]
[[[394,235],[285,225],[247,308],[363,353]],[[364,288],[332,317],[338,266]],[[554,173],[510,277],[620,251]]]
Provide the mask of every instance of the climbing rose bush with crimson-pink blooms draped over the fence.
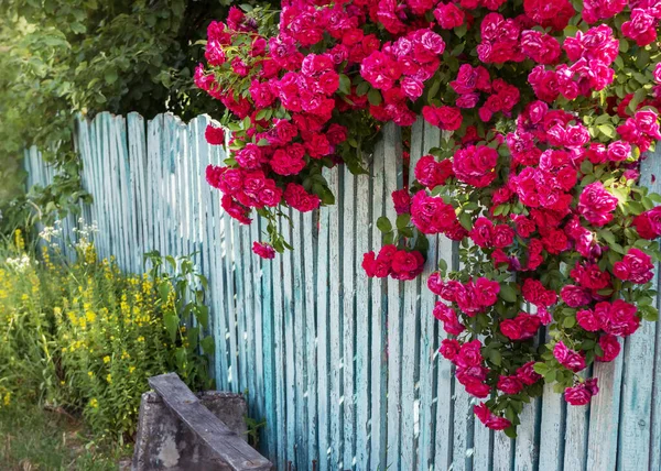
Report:
[[[554,383],[572,405],[652,306],[661,197],[639,164],[661,139],[657,0],[283,0],[234,8],[208,28],[195,83],[219,100],[224,166],[207,168],[225,210],[268,222],[254,252],[290,248],[282,208],[334,202],[322,171],[366,173],[382,123],[442,130],[379,218],[368,276],[412,280],[427,236],[459,265],[426,281],[447,337],[441,354],[481,399],[487,427],[516,435]],[[394,162],[391,163],[394,165]],[[394,223],[393,223],[394,222]],[[430,314],[432,315],[432,314]]]

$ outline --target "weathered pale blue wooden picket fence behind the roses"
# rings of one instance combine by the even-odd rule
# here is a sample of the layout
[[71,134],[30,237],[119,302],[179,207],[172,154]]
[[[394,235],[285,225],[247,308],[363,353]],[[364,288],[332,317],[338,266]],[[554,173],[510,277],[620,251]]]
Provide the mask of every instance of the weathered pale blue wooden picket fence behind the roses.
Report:
[[[517,439],[474,418],[473,399],[437,349],[445,333],[432,316],[434,296],[421,280],[368,280],[361,255],[380,247],[372,222],[393,217],[390,193],[401,187],[398,130],[388,125],[370,176],[344,168],[326,177],[337,205],[291,215],[281,229],[296,248],[274,261],[251,252],[260,221],[240,226],[205,183],[207,164],[225,157],[206,144],[209,122],[164,114],[108,113],[78,123],[85,188],[94,204],[100,256],[141,272],[142,254],[196,252],[209,278],[208,305],[220,390],[246,392],[251,415],[266,419],[262,451],[279,469],[607,471],[661,470],[661,329],[643,322],[614,363],[599,363],[600,393],[589,406],[566,406],[551,392],[528,406]],[[440,143],[419,120],[411,165]],[[52,171],[25,154],[29,184]],[[654,178],[652,155],[642,178]],[[75,239],[74,217],[63,222]],[[456,247],[431,240],[430,262],[457,266]]]

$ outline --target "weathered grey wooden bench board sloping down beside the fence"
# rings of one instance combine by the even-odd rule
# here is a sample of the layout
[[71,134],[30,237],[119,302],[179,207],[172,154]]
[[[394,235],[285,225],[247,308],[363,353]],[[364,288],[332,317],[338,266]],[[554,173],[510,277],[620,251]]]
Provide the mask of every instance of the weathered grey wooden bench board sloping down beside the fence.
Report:
[[176,373],[152,376],[149,385],[186,427],[232,470],[268,471],[272,468],[269,460],[203,406]]

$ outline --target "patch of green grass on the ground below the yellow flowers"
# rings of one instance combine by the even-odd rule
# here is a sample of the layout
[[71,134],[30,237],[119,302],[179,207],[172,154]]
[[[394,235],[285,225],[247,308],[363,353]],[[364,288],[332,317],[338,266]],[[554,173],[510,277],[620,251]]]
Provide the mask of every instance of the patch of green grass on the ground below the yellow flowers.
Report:
[[64,413],[35,406],[0,409],[2,470],[115,471],[129,463],[130,452],[126,446],[95,445],[80,423]]

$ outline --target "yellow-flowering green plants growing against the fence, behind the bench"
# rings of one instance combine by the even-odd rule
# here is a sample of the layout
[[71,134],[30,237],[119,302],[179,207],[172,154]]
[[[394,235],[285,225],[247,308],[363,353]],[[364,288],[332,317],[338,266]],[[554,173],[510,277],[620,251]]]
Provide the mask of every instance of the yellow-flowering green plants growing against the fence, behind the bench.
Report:
[[[201,277],[189,260],[153,253],[149,273],[124,275],[112,260],[97,261],[88,232],[79,233],[72,263],[61,256],[56,236],[42,233],[39,262],[20,232],[3,248],[4,406],[14,397],[63,406],[82,413],[97,435],[118,438],[136,430],[149,376],[175,371],[194,390],[212,386],[207,358],[198,353],[199,328],[180,322],[194,315],[206,326]],[[213,349],[210,337],[202,344]]]

